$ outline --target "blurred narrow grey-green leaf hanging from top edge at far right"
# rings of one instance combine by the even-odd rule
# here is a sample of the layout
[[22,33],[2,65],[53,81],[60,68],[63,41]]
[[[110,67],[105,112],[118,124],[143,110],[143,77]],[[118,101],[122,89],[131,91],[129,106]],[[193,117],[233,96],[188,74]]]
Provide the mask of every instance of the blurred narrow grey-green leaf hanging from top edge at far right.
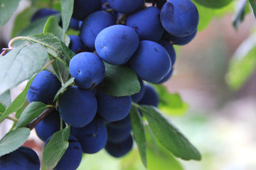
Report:
[[235,29],[238,29],[238,26],[240,26],[240,23],[245,18],[245,14],[250,12],[247,8],[247,0],[240,0],[239,4],[236,7],[235,15],[233,16],[233,26]]

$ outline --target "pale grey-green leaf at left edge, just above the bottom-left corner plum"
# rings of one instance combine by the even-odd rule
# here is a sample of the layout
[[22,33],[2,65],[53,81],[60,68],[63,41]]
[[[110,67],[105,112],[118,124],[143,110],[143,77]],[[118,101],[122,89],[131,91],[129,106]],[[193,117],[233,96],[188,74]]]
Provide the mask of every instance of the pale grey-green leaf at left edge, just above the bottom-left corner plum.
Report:
[[0,140],[0,157],[13,152],[23,145],[30,135],[28,128],[11,130]]

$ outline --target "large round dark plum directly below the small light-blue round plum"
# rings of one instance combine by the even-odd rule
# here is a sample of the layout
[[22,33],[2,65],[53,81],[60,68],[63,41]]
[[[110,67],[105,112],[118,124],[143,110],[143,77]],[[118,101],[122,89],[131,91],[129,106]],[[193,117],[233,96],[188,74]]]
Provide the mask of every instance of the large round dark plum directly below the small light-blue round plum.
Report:
[[75,128],[82,128],[95,117],[97,99],[92,91],[73,86],[60,96],[58,108],[65,123]]

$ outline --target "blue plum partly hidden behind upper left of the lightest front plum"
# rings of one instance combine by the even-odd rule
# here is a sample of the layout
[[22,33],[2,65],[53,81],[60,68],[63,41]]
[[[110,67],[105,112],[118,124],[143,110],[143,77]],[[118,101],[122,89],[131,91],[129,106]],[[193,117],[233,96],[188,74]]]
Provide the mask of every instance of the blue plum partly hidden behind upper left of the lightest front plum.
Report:
[[96,11],[91,13],[82,22],[80,28],[80,37],[87,47],[95,48],[95,39],[98,33],[108,26],[116,23],[114,17],[105,11]]

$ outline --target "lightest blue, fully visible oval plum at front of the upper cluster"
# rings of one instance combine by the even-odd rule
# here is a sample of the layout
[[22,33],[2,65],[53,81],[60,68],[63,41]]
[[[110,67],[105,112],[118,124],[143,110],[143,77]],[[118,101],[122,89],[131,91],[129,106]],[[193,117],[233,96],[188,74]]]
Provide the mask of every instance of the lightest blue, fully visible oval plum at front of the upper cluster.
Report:
[[97,54],[110,64],[126,63],[138,46],[137,33],[132,28],[122,25],[105,28],[95,40]]

